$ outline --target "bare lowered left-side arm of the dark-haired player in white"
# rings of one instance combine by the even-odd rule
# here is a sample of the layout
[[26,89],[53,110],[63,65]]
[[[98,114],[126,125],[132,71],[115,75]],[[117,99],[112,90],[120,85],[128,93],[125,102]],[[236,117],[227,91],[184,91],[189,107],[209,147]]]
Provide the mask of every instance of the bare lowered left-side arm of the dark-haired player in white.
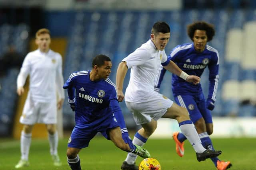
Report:
[[117,97],[118,101],[122,102],[124,100],[124,93],[123,93],[123,85],[124,85],[124,78],[127,73],[127,66],[126,62],[121,62],[118,65],[117,71],[116,71],[116,90],[117,90]]

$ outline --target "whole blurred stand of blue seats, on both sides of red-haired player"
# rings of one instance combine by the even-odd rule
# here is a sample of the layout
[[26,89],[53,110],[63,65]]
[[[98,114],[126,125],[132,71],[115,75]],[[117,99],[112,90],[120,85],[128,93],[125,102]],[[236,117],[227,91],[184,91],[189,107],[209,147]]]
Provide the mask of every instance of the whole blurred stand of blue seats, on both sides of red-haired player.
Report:
[[[170,24],[171,38],[166,47],[168,54],[178,44],[191,42],[186,35],[186,25],[197,20],[213,23],[214,39],[208,43],[219,52],[219,86],[214,116],[256,116],[254,106],[239,105],[241,100],[255,98],[256,94],[256,1],[252,0],[182,0],[182,10],[77,10],[72,11],[68,31],[68,46],[64,60],[64,79],[78,70],[91,68],[93,56],[103,53],[112,59],[110,79],[115,82],[118,63],[129,53],[150,38],[150,29],[156,20]],[[73,15],[74,14],[74,15]],[[73,17],[74,16],[74,17]],[[73,17],[73,18],[72,18]],[[2,21],[2,20],[1,20]],[[20,53],[27,53],[28,33],[26,24],[0,25],[0,54],[13,43]],[[56,32],[56,31],[55,31]],[[2,55],[0,55],[2,57]],[[14,114],[14,86],[18,71],[9,70],[0,78],[1,98],[14,101],[6,104],[0,100],[0,135],[7,135]],[[129,73],[128,73],[129,74]],[[202,75],[202,87],[208,94],[208,70]],[[127,86],[129,76],[124,84]],[[124,86],[124,88],[126,88]],[[162,94],[173,99],[171,74],[167,74],[160,89]],[[11,90],[12,89],[12,90]],[[10,92],[12,94],[9,94]],[[67,94],[66,94],[67,95]],[[66,96],[67,97],[67,96]],[[14,105],[12,105],[14,104]],[[130,115],[124,102],[120,103],[125,115]],[[64,128],[73,127],[74,115],[64,102]],[[132,119],[126,119],[129,126]]]

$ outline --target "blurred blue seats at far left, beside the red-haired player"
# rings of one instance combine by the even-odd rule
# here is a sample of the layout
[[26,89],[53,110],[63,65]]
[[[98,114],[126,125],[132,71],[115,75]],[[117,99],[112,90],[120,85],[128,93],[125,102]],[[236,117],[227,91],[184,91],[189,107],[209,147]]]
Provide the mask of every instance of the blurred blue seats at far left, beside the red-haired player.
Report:
[[[0,26],[0,53],[4,54],[9,45],[14,45],[20,54],[27,51],[29,28],[26,24]],[[2,57],[2,55],[0,55]],[[0,78],[0,136],[10,135],[13,117],[16,109],[16,78],[18,68],[10,68],[7,74]],[[8,101],[8,102],[7,102]]]

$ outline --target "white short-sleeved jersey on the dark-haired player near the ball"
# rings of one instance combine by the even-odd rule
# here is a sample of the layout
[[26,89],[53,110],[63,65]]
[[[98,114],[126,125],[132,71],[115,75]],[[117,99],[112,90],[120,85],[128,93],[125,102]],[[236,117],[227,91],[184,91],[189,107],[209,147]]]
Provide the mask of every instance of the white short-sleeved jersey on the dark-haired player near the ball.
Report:
[[124,95],[125,101],[137,102],[151,96],[160,64],[167,61],[165,51],[156,49],[150,39],[122,61],[131,68],[130,81]]

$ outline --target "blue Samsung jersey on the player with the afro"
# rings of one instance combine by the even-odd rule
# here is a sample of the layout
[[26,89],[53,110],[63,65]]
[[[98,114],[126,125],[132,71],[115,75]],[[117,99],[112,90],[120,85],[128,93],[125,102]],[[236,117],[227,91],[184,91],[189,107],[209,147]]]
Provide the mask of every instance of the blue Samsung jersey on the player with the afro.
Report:
[[[194,49],[193,43],[186,43],[176,46],[168,55],[168,58],[178,65],[188,75],[201,76],[204,69],[209,69],[209,94],[208,98],[216,100],[218,88],[219,54],[216,49],[206,45],[203,52],[199,53]],[[166,70],[163,68],[158,74],[155,88],[160,88]],[[201,84],[186,82],[179,76],[172,74],[172,92],[174,96],[195,95],[202,92]]]

